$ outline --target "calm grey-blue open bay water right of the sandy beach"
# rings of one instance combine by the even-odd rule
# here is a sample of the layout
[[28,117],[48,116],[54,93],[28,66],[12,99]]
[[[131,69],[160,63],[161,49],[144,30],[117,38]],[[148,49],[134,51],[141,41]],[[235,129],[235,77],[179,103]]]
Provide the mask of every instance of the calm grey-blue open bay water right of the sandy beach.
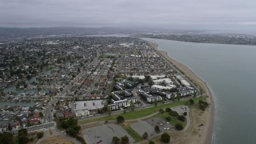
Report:
[[213,143],[256,143],[256,46],[143,38],[206,81],[216,107]]

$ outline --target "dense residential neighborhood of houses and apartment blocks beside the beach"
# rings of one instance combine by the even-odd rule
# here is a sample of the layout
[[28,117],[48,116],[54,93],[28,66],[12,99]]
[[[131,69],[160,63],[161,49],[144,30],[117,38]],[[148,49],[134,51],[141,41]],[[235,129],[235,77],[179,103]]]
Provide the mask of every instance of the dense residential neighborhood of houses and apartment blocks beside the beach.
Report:
[[62,119],[140,110],[200,91],[139,38],[31,38],[0,49],[1,132],[55,129]]

